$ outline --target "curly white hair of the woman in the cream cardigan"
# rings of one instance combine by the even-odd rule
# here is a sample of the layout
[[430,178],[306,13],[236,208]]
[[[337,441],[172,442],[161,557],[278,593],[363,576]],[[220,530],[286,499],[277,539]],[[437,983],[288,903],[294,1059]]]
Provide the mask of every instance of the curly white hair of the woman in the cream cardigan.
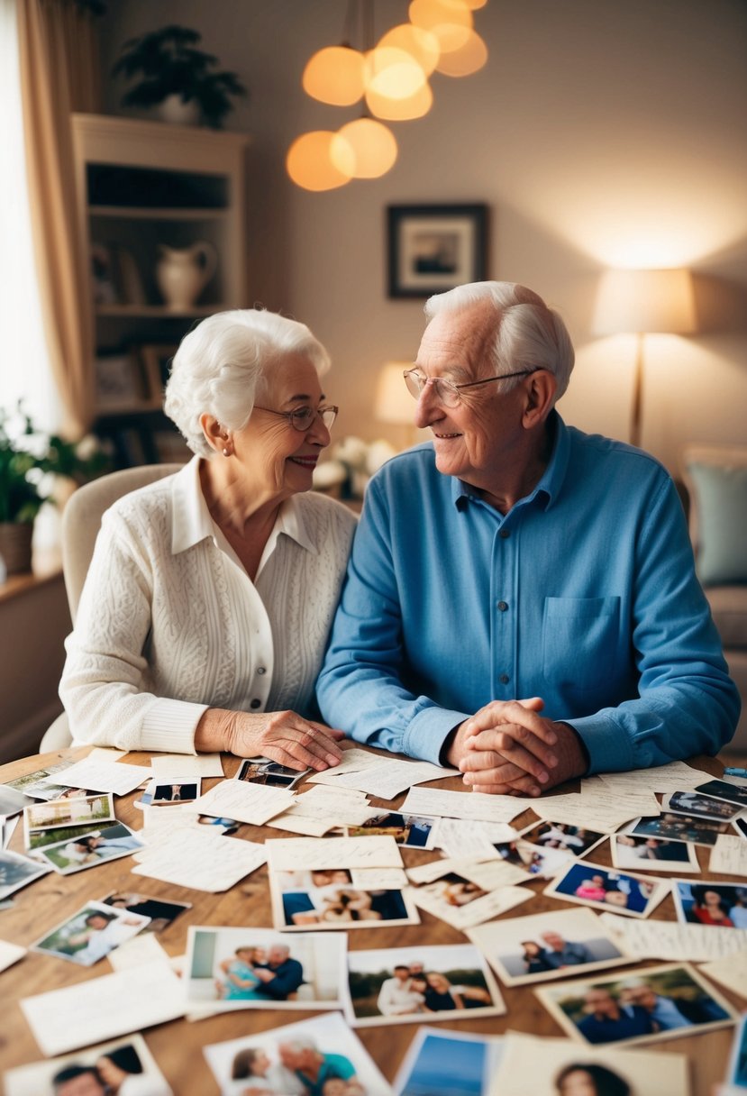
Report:
[[242,430],[257,390],[290,354],[307,357],[320,377],[330,368],[329,354],[304,323],[262,308],[210,316],[182,340],[171,365],[163,410],[193,453],[212,457],[200,415],[214,415],[230,431]]

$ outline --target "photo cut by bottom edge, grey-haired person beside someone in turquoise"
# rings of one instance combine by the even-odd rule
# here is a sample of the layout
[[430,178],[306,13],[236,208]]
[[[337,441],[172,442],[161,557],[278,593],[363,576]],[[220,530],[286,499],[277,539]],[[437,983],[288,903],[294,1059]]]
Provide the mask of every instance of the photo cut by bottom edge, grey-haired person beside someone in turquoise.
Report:
[[205,1047],[221,1096],[307,1093],[392,1096],[366,1048],[340,1013]]

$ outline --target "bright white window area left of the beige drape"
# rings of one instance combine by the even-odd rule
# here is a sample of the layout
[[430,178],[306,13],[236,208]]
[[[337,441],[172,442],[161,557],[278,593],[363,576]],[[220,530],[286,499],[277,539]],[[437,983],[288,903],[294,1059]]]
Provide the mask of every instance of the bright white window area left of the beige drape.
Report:
[[28,212],[19,77],[16,3],[0,0],[0,408],[19,399],[44,431],[58,430],[62,406],[44,334]]

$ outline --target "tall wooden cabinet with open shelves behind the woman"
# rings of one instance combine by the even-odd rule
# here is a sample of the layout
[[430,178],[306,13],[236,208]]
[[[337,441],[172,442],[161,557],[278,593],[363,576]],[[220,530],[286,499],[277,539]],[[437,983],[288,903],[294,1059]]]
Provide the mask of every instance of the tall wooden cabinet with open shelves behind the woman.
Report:
[[[196,320],[245,306],[249,138],[95,114],[73,114],[72,132],[91,270],[95,430],[113,441],[119,467],[186,459],[160,410],[163,381]],[[215,258],[194,301],[164,299],[157,276],[164,248],[210,267]]]

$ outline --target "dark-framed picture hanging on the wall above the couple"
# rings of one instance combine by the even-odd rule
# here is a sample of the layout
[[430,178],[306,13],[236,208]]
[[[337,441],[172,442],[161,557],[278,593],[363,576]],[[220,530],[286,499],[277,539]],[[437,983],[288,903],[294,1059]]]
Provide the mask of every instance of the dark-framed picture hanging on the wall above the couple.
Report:
[[429,297],[486,276],[487,206],[387,207],[388,293]]

